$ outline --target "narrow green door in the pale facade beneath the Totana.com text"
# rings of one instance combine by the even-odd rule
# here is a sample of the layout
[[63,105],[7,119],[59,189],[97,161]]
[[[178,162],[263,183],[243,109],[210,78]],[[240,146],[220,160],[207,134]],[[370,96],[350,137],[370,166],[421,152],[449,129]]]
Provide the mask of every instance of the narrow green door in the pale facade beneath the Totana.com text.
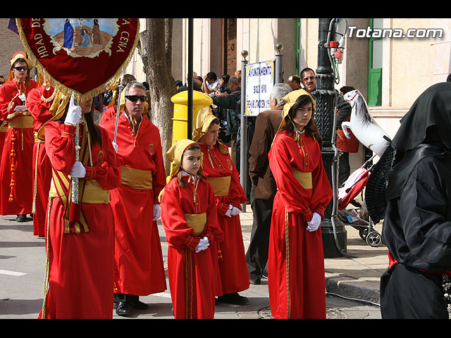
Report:
[[[373,28],[383,28],[383,19],[369,19]],[[369,38],[368,105],[382,104],[382,38]]]

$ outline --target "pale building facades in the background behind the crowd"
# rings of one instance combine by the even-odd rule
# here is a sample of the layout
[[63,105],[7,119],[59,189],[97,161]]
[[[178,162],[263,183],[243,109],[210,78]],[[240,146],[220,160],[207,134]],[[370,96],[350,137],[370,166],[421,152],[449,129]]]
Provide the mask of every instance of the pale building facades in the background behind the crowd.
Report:
[[[146,19],[140,19],[145,30]],[[233,75],[247,61],[271,61],[276,44],[283,44],[283,80],[304,67],[316,70],[318,18],[194,18],[193,70],[204,76]],[[0,18],[0,75],[8,75],[9,61],[23,50],[18,35]],[[364,95],[371,115],[393,137],[399,120],[427,87],[451,73],[450,18],[350,18],[340,81],[336,89],[353,86]],[[188,20],[173,19],[173,77],[186,82]],[[146,81],[140,56],[135,53],[127,73]],[[362,164],[362,152],[354,155]]]

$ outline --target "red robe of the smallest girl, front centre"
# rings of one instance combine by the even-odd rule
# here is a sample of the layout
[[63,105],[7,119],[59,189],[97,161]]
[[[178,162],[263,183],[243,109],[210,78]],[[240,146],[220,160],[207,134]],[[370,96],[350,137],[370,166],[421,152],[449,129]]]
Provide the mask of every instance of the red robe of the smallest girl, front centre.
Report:
[[[161,222],[168,242],[169,288],[175,319],[213,319],[218,277],[216,242],[223,239],[218,224],[216,198],[209,182],[194,181],[182,188],[174,177],[164,189],[161,200]],[[196,194],[194,204],[194,193]],[[187,227],[185,213],[206,213],[204,232],[196,236]],[[195,252],[202,237],[208,237],[210,246]]]

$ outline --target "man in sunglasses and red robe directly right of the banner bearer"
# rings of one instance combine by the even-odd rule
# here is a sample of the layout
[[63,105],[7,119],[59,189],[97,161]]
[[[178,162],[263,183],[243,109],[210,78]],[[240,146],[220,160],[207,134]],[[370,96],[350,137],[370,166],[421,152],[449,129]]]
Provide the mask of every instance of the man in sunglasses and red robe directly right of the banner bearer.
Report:
[[[130,82],[121,92],[116,145],[122,165],[122,184],[111,192],[116,224],[116,313],[128,315],[130,307],[145,310],[139,300],[166,290],[166,273],[156,220],[158,196],[166,185],[166,171],[158,128],[143,114],[145,87]],[[116,106],[108,108],[101,125],[114,141]]]

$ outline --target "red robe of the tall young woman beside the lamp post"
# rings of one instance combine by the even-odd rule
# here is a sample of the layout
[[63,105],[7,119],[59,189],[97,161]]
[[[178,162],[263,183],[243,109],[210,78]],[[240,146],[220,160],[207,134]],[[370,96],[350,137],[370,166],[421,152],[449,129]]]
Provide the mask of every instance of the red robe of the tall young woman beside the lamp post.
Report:
[[[268,154],[278,192],[268,250],[268,292],[275,318],[326,318],[321,227],[306,230],[313,213],[324,217],[332,189],[318,142],[305,133],[299,142],[280,132]],[[300,184],[293,168],[311,173],[313,189]],[[307,185],[307,184],[306,184]]]

